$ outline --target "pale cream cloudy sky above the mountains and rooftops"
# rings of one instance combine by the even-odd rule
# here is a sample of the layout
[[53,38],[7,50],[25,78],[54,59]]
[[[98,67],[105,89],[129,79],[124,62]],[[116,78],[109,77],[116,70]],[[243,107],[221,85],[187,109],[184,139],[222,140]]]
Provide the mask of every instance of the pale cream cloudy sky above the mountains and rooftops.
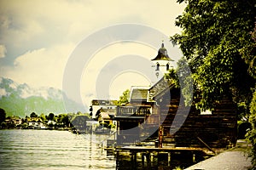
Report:
[[[175,60],[180,57],[166,37],[181,31],[175,26],[175,19],[183,8],[184,4],[175,0],[0,0],[0,77],[33,88],[63,90],[65,71],[72,63],[73,74],[76,70],[80,72],[75,82],[79,85],[69,87],[77,92],[67,92],[70,98],[84,105],[90,105],[90,100],[96,98],[116,99],[131,85],[152,85],[152,78],[143,73],[146,69],[140,71],[137,66],[151,67],[147,60],[150,62],[156,56],[162,40],[171,47],[170,51],[167,48],[169,56]],[[145,34],[137,29],[121,29],[122,25],[146,26]],[[116,32],[100,34],[109,27]],[[160,33],[151,36],[154,30],[166,37]],[[115,37],[115,33],[129,34],[131,40]],[[108,41],[102,43],[106,37]],[[154,43],[150,44],[150,37],[154,37]],[[83,48],[80,56],[86,62],[73,62],[79,48]],[[81,70],[76,65],[82,65]],[[102,81],[104,77],[108,83]],[[104,93],[98,96],[101,90]]]

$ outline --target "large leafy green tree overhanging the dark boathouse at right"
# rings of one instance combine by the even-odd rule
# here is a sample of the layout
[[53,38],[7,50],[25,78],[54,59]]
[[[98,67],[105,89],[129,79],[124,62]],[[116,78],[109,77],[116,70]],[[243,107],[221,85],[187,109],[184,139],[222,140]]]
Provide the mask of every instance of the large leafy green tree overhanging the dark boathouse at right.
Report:
[[[181,34],[171,37],[189,62],[195,89],[201,91],[197,104],[212,109],[223,97],[232,98],[242,116],[249,114],[255,79],[248,74],[247,56],[241,51],[253,44],[255,0],[178,0],[187,3],[176,26]],[[245,83],[246,82],[246,83]]]

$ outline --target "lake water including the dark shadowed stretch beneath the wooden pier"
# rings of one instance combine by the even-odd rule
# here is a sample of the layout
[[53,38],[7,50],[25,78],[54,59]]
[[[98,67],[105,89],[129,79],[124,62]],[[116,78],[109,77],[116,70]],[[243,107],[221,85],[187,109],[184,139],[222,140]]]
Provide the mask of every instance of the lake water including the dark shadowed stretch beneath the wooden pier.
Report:
[[134,170],[172,169],[193,164],[191,156],[175,153],[172,156],[137,153],[137,161],[130,152],[115,155],[113,150],[101,147],[107,138],[108,135],[54,130],[0,130],[0,169]]

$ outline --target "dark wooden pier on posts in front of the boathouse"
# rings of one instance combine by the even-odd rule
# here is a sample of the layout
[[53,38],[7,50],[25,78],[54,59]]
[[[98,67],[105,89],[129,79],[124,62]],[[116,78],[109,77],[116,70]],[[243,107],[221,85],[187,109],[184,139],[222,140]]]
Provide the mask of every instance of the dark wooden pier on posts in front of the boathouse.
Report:
[[[130,161],[130,165],[136,167],[137,163],[145,166],[158,166],[165,164],[166,167],[170,167],[177,161],[183,161],[185,166],[191,166],[196,162],[203,161],[204,156],[207,156],[206,152],[200,148],[154,148],[154,147],[137,147],[137,146],[125,146],[117,147],[115,149],[117,157],[117,167],[119,162],[122,161],[122,154],[126,154],[126,161]],[[127,160],[127,157],[130,160]],[[179,163],[177,163],[179,164]]]

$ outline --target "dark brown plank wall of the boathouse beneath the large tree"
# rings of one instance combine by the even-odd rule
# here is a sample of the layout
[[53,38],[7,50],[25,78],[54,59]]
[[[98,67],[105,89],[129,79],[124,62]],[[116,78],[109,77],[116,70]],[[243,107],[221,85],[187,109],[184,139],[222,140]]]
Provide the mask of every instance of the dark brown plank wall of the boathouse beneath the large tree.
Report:
[[[191,105],[189,115],[182,127],[176,133],[170,134],[170,127],[175,128],[173,124],[177,115],[177,110],[181,113],[187,112],[188,108],[180,104],[179,89],[170,89],[171,99],[162,96],[156,101],[160,103],[160,116],[162,127],[164,127],[164,141],[174,139],[176,147],[203,147],[197,137],[202,139],[211,148],[226,148],[230,144],[236,144],[236,106],[230,99],[221,100],[213,108],[211,115],[201,115],[201,111],[195,109],[195,103]],[[163,101],[165,100],[165,101]],[[169,104],[169,105],[168,105]],[[186,116],[179,115],[179,116]]]

